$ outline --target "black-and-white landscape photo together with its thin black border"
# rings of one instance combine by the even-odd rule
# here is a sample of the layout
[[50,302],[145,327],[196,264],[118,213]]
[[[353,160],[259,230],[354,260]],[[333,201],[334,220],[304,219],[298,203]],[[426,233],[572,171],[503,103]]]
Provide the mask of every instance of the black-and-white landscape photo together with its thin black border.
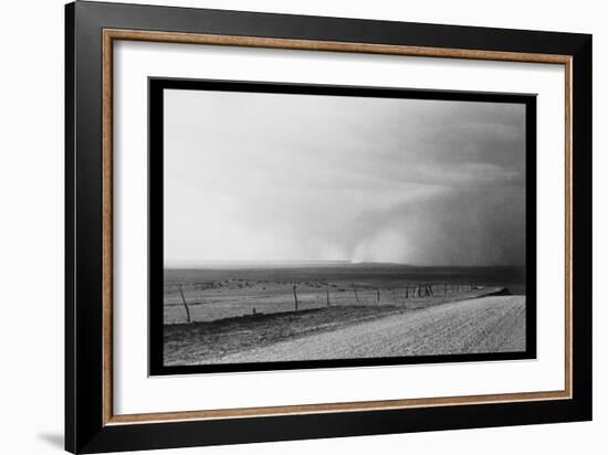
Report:
[[533,358],[534,108],[150,80],[153,373]]

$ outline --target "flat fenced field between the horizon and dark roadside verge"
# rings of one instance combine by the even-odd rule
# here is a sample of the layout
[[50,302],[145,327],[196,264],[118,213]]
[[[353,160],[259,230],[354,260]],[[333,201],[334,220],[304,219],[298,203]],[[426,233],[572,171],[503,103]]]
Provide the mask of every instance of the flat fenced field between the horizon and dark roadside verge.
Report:
[[164,321],[166,325],[187,322],[184,299],[190,320],[198,322],[254,313],[343,305],[416,308],[420,304],[478,297],[488,294],[491,287],[525,294],[523,267],[329,263],[323,266],[175,268],[165,271]]

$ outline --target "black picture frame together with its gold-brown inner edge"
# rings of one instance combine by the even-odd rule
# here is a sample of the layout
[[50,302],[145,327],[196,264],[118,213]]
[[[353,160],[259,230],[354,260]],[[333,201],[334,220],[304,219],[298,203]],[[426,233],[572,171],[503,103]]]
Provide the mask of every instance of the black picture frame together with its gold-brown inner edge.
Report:
[[[591,419],[590,35],[82,1],[67,4],[65,18],[67,451],[99,453]],[[113,191],[113,49],[117,41],[562,65],[564,389],[115,413],[113,203],[119,194]]]

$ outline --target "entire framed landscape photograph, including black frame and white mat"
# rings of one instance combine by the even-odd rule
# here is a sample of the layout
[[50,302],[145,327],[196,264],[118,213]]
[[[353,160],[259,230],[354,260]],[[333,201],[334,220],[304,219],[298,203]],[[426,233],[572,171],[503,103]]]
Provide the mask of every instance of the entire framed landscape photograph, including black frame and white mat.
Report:
[[590,35],[65,11],[67,451],[591,419]]

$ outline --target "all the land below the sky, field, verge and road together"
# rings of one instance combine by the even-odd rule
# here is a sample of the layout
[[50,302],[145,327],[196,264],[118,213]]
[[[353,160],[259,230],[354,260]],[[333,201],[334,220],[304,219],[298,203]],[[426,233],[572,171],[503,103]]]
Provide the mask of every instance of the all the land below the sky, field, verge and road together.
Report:
[[523,267],[165,271],[166,366],[525,350]]

